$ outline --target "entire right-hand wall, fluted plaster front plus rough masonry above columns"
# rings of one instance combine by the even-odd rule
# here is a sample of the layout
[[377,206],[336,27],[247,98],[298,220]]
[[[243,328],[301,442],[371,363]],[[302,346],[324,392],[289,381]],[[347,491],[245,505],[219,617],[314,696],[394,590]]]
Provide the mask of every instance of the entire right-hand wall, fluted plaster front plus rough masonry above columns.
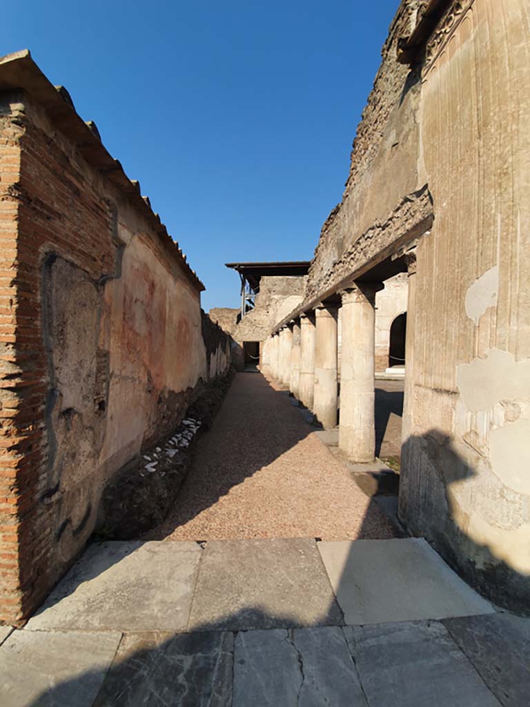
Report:
[[530,611],[529,27],[525,0],[401,3],[343,200],[322,228],[305,301],[285,317],[416,247],[400,517],[521,612]]

